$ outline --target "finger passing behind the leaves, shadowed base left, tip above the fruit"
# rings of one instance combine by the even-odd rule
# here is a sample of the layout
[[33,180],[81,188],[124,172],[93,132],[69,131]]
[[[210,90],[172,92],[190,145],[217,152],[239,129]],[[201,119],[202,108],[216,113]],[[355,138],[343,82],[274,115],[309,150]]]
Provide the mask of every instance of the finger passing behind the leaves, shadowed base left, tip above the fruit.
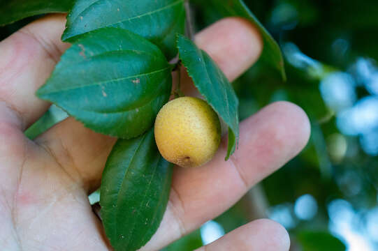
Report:
[[[219,29],[221,31],[217,31]],[[224,34],[224,38],[219,40],[214,37],[216,33]],[[261,51],[259,33],[254,26],[238,18],[221,20],[199,33],[197,38],[199,46],[208,48],[210,54],[215,57],[217,63],[230,78],[240,75],[243,69],[248,67],[247,63],[256,60]],[[222,47],[224,50],[210,49],[220,48],[222,43],[224,43]],[[235,47],[245,48],[245,51],[235,49]],[[260,50],[250,50],[249,47],[259,47]],[[228,54],[229,52],[232,53]],[[67,172],[78,177],[78,182],[85,188],[94,190],[99,187],[104,163],[115,139],[95,134],[75,119],[70,118],[41,135],[37,141],[48,146],[54,155],[63,159],[62,162],[71,163]]]

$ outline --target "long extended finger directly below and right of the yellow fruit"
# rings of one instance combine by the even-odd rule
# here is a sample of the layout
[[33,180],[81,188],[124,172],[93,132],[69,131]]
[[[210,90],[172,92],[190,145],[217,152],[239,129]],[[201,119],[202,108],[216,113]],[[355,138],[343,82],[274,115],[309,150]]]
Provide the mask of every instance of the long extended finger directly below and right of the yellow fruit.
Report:
[[243,121],[239,148],[230,160],[224,161],[224,138],[208,165],[175,169],[163,222],[143,251],[168,245],[226,211],[254,184],[297,155],[309,137],[306,114],[289,102],[276,102]]

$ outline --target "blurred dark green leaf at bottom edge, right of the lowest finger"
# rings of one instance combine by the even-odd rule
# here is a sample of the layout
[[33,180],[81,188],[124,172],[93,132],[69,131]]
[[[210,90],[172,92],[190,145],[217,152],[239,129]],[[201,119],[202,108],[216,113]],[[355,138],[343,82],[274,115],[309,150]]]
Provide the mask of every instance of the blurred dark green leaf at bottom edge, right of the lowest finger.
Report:
[[347,250],[342,241],[325,231],[301,231],[296,238],[303,251]]

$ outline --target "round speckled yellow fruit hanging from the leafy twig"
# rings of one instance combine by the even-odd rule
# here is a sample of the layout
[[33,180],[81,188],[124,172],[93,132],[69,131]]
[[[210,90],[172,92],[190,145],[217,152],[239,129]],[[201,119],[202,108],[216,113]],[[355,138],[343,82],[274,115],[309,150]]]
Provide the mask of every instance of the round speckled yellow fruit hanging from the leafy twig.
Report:
[[181,167],[198,167],[212,159],[221,142],[215,111],[199,98],[176,98],[161,108],[155,140],[163,158]]

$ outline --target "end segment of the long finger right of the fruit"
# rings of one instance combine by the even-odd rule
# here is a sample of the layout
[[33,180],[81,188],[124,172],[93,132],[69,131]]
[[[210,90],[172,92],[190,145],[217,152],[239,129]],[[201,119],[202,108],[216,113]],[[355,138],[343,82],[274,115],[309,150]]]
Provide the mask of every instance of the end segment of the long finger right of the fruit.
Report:
[[310,122],[303,109],[274,102],[240,123],[233,162],[247,185],[253,185],[298,155],[309,137]]

